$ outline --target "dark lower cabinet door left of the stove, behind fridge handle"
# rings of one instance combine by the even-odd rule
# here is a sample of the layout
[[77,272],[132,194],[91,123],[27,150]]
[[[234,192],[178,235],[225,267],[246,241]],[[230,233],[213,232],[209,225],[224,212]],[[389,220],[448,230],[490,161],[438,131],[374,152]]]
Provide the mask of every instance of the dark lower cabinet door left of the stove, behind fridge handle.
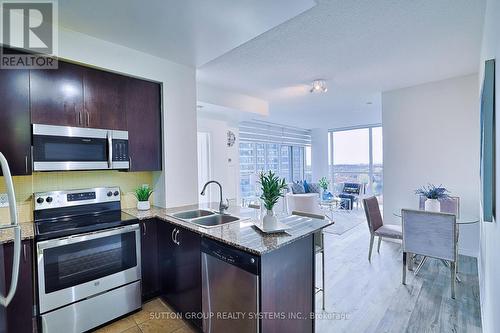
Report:
[[[14,244],[4,244],[6,290],[10,287]],[[19,280],[16,295],[7,307],[7,332],[31,333],[35,325],[33,316],[33,258],[31,240],[22,242]]]

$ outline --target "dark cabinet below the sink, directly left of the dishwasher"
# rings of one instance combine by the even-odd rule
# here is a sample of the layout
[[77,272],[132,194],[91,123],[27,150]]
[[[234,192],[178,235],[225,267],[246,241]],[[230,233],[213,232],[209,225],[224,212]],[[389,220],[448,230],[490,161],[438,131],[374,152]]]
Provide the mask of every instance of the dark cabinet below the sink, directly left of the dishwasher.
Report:
[[[201,313],[201,236],[158,224],[161,297],[184,316]],[[201,327],[201,319],[191,320]]]

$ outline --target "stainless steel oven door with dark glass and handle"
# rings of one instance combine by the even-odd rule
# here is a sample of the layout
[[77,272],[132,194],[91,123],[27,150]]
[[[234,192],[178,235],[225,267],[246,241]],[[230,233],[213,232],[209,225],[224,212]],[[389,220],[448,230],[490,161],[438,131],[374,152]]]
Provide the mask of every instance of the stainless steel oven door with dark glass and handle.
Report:
[[139,225],[37,243],[40,314],[141,278]]

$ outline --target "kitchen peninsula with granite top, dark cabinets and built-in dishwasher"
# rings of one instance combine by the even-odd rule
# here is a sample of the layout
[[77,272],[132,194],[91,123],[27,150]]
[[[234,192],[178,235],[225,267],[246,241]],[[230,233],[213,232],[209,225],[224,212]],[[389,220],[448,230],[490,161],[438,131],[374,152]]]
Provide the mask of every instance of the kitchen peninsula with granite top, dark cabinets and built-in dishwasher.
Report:
[[[217,316],[223,315],[219,312],[242,312],[245,320],[224,320],[223,325],[229,325],[224,328],[255,325],[260,332],[314,332],[314,234],[333,222],[288,216],[280,220],[290,227],[286,233],[264,234],[254,227],[253,209],[231,206],[227,213],[240,220],[210,228],[173,216],[217,207],[125,210],[142,224],[143,296],[160,295],[185,317],[203,313],[190,321],[205,331],[208,326],[223,327],[218,326],[222,320],[217,321]],[[233,265],[224,268],[223,261]],[[210,270],[210,262],[218,265],[216,270]],[[248,283],[242,286],[242,281]],[[251,281],[255,281],[253,294]],[[216,293],[223,294],[222,301]]]

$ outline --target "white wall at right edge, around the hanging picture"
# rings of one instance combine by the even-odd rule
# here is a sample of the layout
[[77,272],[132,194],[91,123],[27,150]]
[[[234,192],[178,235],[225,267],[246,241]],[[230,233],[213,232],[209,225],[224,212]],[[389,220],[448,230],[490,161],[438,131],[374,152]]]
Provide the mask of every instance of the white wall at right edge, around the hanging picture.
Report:
[[[479,82],[483,81],[484,61],[496,58],[496,114],[500,114],[500,0],[488,0],[486,4],[483,44],[481,50]],[[500,128],[500,117],[496,117],[496,128]],[[497,134],[496,155],[500,156],[500,137]],[[496,174],[500,174],[500,164],[496,164]],[[500,177],[496,178],[496,188],[500,188]],[[496,206],[500,207],[497,192]],[[497,212],[498,212],[497,208]],[[479,286],[483,332],[500,332],[500,225],[482,222],[479,249]]]

